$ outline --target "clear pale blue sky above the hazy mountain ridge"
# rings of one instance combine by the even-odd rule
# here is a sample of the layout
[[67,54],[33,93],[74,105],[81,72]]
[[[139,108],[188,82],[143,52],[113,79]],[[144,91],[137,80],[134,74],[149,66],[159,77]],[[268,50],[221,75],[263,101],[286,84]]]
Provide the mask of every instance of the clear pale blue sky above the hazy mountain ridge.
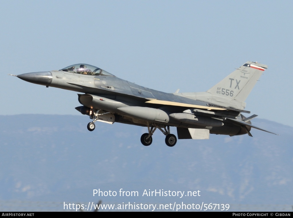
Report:
[[76,114],[76,93],[7,74],[87,63],[164,92],[267,64],[246,110],[292,126],[292,1],[2,1],[1,115]]

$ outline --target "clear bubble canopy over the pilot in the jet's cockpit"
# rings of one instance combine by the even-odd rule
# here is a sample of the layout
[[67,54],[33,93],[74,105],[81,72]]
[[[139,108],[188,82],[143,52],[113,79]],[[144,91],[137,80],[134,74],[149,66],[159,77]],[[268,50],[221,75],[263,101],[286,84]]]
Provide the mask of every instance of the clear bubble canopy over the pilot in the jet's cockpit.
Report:
[[102,70],[98,67],[89,65],[89,64],[74,64],[68,67],[61,69],[62,71],[71,72],[75,74],[84,74],[91,76],[114,76],[113,74],[108,73],[105,70]]

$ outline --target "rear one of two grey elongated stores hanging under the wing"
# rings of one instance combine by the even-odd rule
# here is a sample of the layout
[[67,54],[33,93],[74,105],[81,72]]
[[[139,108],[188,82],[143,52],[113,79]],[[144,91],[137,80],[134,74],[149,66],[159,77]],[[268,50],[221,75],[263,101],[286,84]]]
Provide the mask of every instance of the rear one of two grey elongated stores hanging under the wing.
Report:
[[182,123],[188,123],[192,125],[199,125],[199,126],[222,126],[224,123],[220,120],[213,119],[211,117],[205,116],[198,116],[194,114],[187,114],[187,113],[173,113],[169,114],[170,117],[173,119],[180,121]]

